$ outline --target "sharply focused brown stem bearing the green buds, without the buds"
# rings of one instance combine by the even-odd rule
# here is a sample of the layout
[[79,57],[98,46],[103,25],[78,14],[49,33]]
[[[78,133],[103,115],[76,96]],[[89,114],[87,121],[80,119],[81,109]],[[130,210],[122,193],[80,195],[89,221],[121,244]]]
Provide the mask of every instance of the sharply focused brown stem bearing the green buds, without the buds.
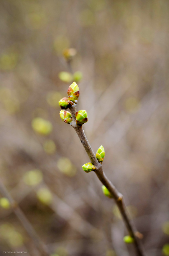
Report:
[[72,114],[72,127],[75,129],[81,143],[83,144],[83,147],[85,148],[91,163],[96,167],[95,174],[99,178],[99,180],[102,182],[102,184],[109,190],[109,192],[112,194],[116,205],[118,206],[118,209],[120,210],[120,213],[123,217],[123,221],[126,225],[126,228],[128,229],[128,232],[131,237],[134,239],[134,245],[137,252],[137,256],[144,256],[144,252],[141,248],[141,243],[136,236],[136,234],[139,234],[139,232],[136,231],[134,224],[130,221],[126,206],[124,204],[123,195],[116,189],[116,187],[109,181],[107,176],[105,175],[102,165],[98,162],[98,160],[95,157],[95,153],[92,150],[88,139],[84,133],[84,130],[82,128],[82,125],[76,125],[76,119],[75,119],[75,113],[76,113],[76,104],[72,105],[69,108],[71,114]]

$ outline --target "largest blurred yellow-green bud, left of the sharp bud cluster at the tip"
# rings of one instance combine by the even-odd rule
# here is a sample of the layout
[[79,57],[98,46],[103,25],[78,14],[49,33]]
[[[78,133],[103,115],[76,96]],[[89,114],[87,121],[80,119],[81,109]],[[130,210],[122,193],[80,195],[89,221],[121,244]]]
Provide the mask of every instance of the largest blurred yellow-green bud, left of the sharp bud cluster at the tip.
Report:
[[41,117],[36,117],[32,120],[32,128],[37,133],[40,133],[42,135],[48,135],[51,133],[53,126],[52,126],[51,122],[49,122]]

